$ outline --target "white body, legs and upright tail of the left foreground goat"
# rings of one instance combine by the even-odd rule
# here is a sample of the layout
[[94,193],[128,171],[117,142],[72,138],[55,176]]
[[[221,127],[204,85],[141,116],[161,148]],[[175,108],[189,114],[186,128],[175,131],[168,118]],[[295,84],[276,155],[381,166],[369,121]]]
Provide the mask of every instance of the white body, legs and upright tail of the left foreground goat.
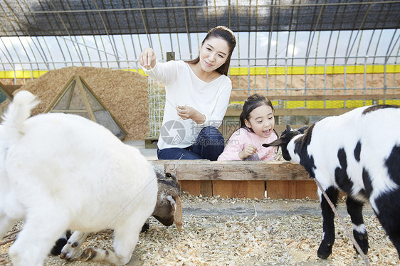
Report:
[[14,265],[43,265],[67,228],[114,229],[114,251],[87,248],[81,260],[125,265],[154,211],[157,179],[138,149],[77,115],[43,114],[26,91],[0,126],[0,235],[23,219],[9,250]]

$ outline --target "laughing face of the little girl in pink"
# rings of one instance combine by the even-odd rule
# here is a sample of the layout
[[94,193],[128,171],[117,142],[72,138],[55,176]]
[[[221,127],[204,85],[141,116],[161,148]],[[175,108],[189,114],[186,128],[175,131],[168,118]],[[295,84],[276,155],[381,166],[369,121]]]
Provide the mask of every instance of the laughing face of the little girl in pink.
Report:
[[250,117],[244,120],[248,128],[260,137],[268,138],[273,134],[275,119],[272,108],[268,105],[261,105],[250,112]]

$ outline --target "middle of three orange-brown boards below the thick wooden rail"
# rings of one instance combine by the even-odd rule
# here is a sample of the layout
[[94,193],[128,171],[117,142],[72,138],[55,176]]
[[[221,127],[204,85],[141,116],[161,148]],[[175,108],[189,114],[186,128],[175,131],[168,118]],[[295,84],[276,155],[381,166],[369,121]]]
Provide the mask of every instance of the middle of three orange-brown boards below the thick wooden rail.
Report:
[[213,196],[264,198],[265,181],[213,181]]

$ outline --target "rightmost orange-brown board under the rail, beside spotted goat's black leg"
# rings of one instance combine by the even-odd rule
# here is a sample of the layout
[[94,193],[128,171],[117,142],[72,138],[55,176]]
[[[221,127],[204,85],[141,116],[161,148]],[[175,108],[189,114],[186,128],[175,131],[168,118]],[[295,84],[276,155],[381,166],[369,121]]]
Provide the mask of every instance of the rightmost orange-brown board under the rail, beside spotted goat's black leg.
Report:
[[318,199],[317,184],[309,181],[266,181],[268,198]]

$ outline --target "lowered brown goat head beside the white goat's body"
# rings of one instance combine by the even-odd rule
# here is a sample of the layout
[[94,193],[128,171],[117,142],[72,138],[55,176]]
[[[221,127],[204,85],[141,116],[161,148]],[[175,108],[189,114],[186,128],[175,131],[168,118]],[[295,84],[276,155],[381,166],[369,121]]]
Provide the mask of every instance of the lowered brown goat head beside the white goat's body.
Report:
[[[158,182],[157,204],[152,216],[163,225],[175,222],[179,232],[182,226],[181,187],[177,177],[166,173],[165,176],[156,171]],[[168,179],[167,179],[168,178]]]

